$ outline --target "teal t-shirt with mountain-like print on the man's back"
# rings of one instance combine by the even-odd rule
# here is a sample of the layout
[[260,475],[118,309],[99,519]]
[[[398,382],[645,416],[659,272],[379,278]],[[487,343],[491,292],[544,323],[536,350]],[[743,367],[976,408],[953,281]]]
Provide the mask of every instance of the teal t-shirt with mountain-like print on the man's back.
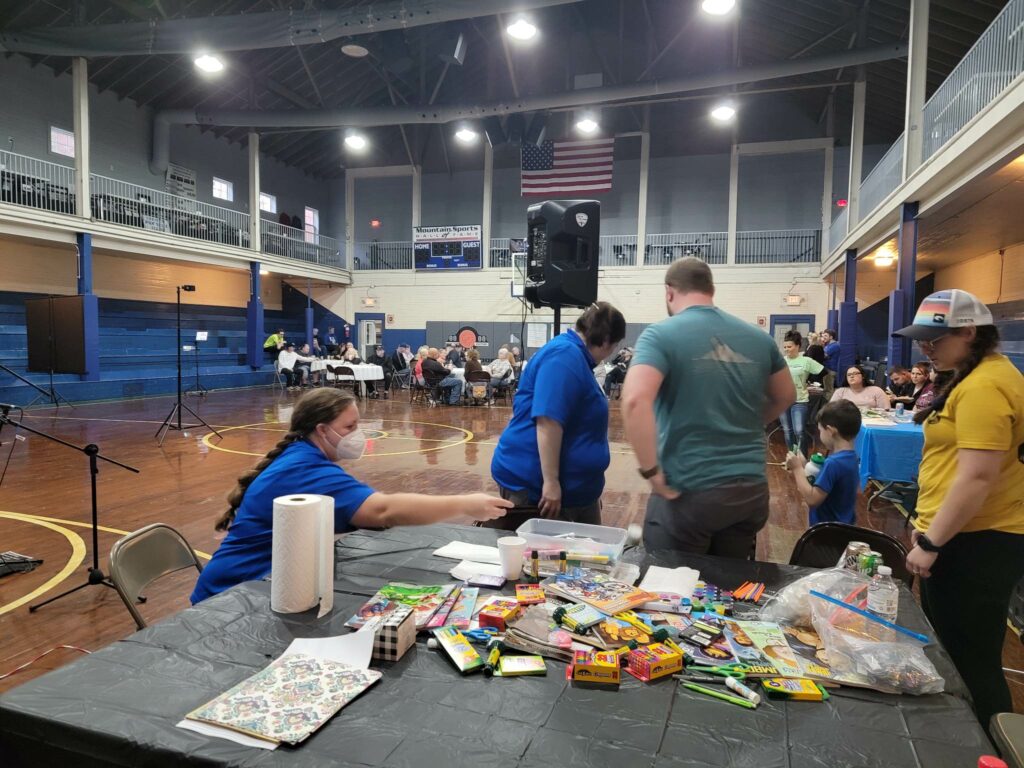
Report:
[[768,334],[718,307],[691,306],[640,335],[633,366],[665,376],[654,413],[658,463],[672,487],[767,480],[765,389],[785,368]]

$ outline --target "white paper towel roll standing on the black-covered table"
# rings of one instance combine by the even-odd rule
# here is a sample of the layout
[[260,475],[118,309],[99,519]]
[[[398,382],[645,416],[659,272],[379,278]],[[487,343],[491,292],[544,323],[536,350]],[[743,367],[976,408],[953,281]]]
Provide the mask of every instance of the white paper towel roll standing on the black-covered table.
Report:
[[296,494],[273,500],[270,609],[299,613],[334,607],[334,500]]

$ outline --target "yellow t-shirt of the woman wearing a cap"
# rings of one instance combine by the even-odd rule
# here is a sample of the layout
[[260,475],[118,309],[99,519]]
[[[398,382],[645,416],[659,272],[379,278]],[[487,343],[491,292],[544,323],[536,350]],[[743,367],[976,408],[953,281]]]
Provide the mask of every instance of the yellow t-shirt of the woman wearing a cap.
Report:
[[1002,354],[990,354],[962,381],[942,411],[925,421],[919,530],[928,530],[953,477],[959,449],[1004,452],[998,479],[963,530],[1024,534],[1024,376]]

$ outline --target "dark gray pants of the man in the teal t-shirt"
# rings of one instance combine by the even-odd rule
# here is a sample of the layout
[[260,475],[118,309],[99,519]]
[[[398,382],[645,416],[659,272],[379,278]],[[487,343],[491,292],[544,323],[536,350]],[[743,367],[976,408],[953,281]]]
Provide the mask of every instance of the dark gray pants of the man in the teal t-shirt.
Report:
[[768,483],[752,480],[686,492],[673,501],[651,496],[643,546],[648,552],[751,558],[758,531],[768,521]]

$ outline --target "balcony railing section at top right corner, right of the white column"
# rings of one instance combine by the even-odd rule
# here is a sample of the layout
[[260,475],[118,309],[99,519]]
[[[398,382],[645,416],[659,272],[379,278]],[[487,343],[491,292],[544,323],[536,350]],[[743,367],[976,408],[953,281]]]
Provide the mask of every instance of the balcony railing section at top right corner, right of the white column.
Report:
[[938,152],[1022,72],[1024,0],[1010,0],[925,104],[923,159]]

